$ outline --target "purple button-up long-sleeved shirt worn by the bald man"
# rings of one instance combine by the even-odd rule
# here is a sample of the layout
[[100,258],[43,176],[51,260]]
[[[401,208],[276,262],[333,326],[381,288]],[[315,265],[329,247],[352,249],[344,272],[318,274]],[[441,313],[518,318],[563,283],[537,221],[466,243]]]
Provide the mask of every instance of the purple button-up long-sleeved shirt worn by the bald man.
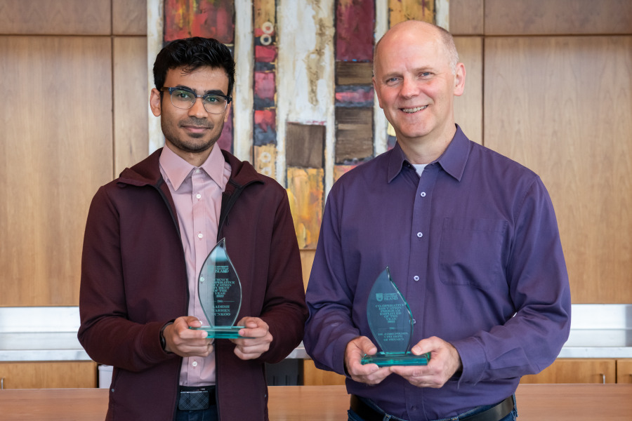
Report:
[[344,374],[347,343],[373,339],[367,298],[387,266],[414,317],[412,345],[434,335],[463,362],[440,389],[395,374],[377,386],[347,380],[391,415],[437,420],[502,401],[568,338],[570,288],[546,188],[458,126],[421,178],[396,145],[331,189],[307,290],[304,342],[317,367]]

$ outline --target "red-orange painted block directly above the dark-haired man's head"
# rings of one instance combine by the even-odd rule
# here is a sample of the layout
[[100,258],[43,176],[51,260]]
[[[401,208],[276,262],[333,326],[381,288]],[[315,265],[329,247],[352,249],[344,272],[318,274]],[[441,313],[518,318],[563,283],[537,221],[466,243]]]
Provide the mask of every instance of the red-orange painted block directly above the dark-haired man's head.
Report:
[[164,41],[204,36],[223,44],[235,41],[234,0],[166,0]]

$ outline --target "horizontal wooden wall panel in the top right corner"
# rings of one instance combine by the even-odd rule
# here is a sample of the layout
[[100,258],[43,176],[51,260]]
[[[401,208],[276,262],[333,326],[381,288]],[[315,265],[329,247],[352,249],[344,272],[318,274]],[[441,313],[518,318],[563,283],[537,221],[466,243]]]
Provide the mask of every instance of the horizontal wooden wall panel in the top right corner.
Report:
[[485,0],[485,34],[632,34],[632,1]]

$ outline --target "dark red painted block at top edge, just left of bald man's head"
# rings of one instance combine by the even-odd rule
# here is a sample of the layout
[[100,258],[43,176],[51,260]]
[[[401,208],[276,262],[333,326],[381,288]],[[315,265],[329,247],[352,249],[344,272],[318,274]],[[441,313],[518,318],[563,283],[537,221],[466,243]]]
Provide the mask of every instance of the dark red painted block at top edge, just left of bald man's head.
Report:
[[373,60],[374,0],[339,0],[336,8],[336,60]]

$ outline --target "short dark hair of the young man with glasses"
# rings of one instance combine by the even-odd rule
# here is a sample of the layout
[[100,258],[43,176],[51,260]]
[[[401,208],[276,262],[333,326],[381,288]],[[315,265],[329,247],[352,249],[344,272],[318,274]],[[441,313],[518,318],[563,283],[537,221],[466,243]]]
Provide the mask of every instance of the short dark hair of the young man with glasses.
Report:
[[169,69],[184,67],[185,72],[193,72],[198,67],[223,68],[228,76],[228,95],[235,84],[235,60],[227,46],[213,38],[176,39],[164,46],[154,62],[154,85],[160,91]]

